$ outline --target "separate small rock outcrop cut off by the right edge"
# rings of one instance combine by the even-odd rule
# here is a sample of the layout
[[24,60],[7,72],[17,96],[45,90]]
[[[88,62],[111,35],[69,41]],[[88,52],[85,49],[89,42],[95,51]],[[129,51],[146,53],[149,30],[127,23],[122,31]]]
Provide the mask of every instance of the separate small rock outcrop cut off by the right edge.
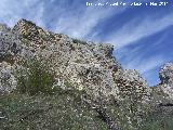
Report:
[[159,87],[170,99],[173,99],[173,63],[165,64],[159,75],[161,80]]

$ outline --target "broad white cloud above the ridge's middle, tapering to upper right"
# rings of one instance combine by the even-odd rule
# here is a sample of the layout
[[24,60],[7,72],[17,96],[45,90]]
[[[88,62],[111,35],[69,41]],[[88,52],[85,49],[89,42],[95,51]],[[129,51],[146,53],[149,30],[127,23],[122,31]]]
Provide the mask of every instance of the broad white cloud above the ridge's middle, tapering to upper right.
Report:
[[56,31],[66,32],[72,37],[85,38],[92,32],[92,29],[103,20],[110,17],[112,14],[119,13],[123,9],[111,8],[93,8],[79,10],[75,13],[69,13],[68,17],[62,16],[57,22]]

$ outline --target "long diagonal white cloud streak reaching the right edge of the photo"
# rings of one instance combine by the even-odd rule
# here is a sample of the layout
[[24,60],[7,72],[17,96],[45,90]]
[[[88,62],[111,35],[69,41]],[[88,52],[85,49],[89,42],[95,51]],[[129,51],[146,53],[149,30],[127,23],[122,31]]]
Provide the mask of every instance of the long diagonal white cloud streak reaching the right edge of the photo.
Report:
[[124,46],[134,43],[142,38],[161,31],[170,25],[173,25],[173,13],[156,20],[151,18],[150,16],[142,21],[134,18],[125,24],[119,31],[116,31],[109,36],[105,41],[115,43],[116,47],[120,49]]

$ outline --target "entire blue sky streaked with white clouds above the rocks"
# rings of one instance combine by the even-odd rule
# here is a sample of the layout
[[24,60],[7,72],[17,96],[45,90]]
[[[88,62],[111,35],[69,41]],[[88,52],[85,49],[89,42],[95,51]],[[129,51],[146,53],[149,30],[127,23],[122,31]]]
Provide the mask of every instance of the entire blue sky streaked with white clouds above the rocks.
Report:
[[[0,23],[10,27],[19,18],[70,37],[115,46],[124,68],[135,68],[150,86],[159,83],[159,68],[173,62],[173,2],[165,6],[86,6],[86,2],[128,0],[1,0]],[[132,2],[149,0],[129,0]]]

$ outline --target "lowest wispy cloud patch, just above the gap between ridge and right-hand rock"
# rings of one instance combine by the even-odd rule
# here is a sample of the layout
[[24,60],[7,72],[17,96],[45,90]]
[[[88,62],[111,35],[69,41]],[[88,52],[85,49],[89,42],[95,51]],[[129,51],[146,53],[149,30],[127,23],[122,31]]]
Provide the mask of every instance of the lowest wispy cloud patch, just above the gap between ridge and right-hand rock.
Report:
[[[161,40],[163,40],[164,36],[161,37],[158,42],[155,43],[155,47],[152,48],[152,51],[157,50],[157,46]],[[149,42],[150,43],[150,42]],[[149,48],[149,46],[148,46]],[[147,49],[147,48],[146,48]],[[164,52],[162,53],[155,53],[155,54],[148,54],[146,49],[143,49],[142,47],[135,47],[135,48],[122,48],[120,49],[120,54],[118,54],[119,60],[122,62],[123,67],[129,69],[136,69],[141,74],[146,75],[150,72],[152,72],[156,68],[159,68],[168,61],[171,61],[170,56],[165,56]]]

